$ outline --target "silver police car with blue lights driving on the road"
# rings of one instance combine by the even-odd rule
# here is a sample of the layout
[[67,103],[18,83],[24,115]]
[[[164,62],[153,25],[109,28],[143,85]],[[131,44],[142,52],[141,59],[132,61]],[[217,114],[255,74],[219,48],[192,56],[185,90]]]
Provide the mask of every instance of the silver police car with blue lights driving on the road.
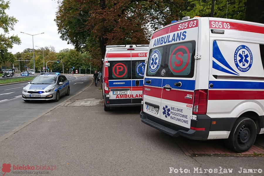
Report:
[[23,88],[22,99],[59,101],[60,96],[64,94],[70,95],[69,80],[64,75],[42,73]]

